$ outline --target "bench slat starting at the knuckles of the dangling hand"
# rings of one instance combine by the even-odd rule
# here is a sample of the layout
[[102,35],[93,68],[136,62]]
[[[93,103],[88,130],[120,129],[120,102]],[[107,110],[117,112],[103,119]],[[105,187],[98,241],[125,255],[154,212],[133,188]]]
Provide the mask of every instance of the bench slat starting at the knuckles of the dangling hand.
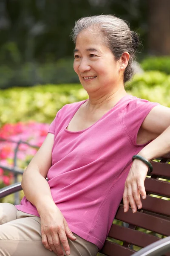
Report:
[[144,186],[147,192],[170,198],[170,182],[146,178]]

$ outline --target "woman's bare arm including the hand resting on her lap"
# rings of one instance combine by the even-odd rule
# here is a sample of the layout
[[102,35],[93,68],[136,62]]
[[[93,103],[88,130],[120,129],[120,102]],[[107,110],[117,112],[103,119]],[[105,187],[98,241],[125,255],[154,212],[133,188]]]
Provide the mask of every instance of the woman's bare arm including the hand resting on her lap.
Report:
[[[42,244],[46,249],[63,255],[60,241],[65,252],[70,253],[67,236],[71,240],[77,238],[69,229],[64,216],[54,203],[46,180],[48,170],[51,167],[53,144],[54,134],[48,133],[42,146],[24,171],[21,185],[27,200],[34,204],[40,215]],[[66,254],[68,255],[68,253]]]

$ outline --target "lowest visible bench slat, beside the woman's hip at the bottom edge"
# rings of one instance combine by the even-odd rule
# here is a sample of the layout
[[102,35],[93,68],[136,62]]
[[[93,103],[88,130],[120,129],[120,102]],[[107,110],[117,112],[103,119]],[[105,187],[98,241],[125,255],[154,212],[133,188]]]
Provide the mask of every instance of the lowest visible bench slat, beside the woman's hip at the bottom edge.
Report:
[[106,240],[100,253],[103,253],[107,256],[130,256],[135,253],[135,251],[120,244],[115,244],[111,241]]

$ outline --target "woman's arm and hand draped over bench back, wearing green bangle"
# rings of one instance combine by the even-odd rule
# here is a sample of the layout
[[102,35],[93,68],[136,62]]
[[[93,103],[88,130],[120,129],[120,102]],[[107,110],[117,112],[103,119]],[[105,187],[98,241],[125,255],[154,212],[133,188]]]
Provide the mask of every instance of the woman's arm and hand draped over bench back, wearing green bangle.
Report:
[[[170,108],[164,106],[154,107],[142,123],[142,129],[150,134],[157,134],[155,139],[147,144],[138,155],[151,161],[157,157],[170,152]],[[144,180],[146,178],[148,167],[141,160],[133,160],[130,172],[125,182],[123,194],[124,212],[130,207],[133,212],[142,208],[142,198],[146,198]]]

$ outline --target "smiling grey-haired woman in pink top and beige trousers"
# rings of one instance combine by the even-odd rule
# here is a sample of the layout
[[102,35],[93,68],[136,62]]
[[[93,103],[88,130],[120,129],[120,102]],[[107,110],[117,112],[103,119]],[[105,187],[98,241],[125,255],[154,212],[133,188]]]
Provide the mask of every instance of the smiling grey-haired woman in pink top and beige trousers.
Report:
[[21,204],[0,205],[1,256],[96,256],[123,192],[125,212],[140,209],[150,160],[170,151],[170,109],[125,91],[139,44],[127,23],[85,17],[73,38],[89,99],[58,111],[23,174]]

